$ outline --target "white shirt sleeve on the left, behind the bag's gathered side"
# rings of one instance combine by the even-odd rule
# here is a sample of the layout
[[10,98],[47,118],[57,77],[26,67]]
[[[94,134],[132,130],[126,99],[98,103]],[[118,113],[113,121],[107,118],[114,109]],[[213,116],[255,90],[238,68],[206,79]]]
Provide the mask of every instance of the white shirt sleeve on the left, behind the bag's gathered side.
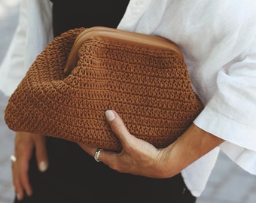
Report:
[[20,2],[19,23],[0,67],[0,90],[10,96],[53,38],[50,1]]

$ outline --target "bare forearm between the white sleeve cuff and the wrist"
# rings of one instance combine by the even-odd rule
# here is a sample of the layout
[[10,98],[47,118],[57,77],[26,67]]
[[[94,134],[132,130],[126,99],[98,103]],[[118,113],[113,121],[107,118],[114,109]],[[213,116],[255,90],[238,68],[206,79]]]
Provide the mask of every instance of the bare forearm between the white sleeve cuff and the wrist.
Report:
[[178,174],[223,141],[223,139],[192,124],[174,144],[166,148],[166,154],[168,154],[165,159],[167,176]]

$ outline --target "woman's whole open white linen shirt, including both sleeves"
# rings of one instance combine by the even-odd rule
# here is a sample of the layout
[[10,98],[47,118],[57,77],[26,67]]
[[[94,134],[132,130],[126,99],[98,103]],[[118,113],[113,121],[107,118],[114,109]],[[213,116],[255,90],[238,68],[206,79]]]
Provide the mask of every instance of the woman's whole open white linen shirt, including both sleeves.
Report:
[[[117,27],[178,44],[205,105],[194,124],[225,140],[181,171],[194,196],[203,192],[220,149],[256,174],[255,20],[255,0],[130,0]],[[20,23],[0,68],[6,95],[52,36],[50,2],[21,1]]]

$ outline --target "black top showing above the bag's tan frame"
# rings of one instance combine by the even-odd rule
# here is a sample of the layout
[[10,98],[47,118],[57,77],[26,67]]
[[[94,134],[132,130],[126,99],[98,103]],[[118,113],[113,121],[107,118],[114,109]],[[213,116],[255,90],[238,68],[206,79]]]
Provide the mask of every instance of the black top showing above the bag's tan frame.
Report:
[[53,33],[60,35],[79,27],[116,28],[129,0],[50,0],[53,2]]

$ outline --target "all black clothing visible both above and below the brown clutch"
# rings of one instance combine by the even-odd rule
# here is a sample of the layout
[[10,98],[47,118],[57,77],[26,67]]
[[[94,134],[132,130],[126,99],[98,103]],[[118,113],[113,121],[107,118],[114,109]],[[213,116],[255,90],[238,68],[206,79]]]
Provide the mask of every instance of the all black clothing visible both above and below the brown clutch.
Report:
[[[54,35],[81,26],[117,27],[127,0],[53,0]],[[99,18],[100,16],[100,18]],[[113,171],[96,162],[78,144],[47,138],[49,168],[38,171],[35,155],[29,166],[32,197],[23,203],[192,203],[196,198],[181,174],[167,179],[140,177]]]

